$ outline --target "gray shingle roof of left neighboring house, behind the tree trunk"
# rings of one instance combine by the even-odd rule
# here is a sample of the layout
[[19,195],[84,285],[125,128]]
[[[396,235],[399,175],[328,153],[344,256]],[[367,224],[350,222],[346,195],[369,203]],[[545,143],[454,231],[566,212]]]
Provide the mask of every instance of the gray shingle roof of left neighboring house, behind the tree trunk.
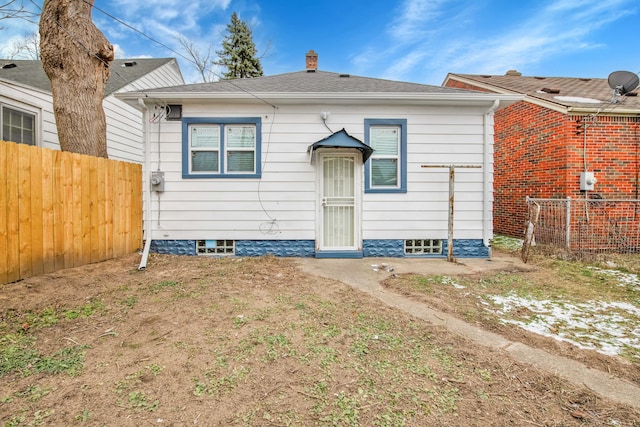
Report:
[[[111,63],[111,74],[105,87],[105,96],[118,91],[124,86],[138,80],[151,71],[173,61],[173,58],[135,58],[115,59]],[[125,66],[125,63],[135,63]],[[15,67],[6,67],[15,64]],[[3,68],[4,67],[4,68]],[[35,60],[0,59],[0,78],[11,80],[37,89],[51,92],[51,83],[42,68],[42,63]]]

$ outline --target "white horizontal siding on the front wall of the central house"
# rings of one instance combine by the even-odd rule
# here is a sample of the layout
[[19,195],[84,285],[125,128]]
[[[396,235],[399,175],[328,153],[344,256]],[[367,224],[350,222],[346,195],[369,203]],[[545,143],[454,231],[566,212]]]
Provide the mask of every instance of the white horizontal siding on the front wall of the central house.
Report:
[[[446,239],[448,169],[421,166],[481,165],[483,111],[375,105],[355,109],[330,105],[322,109],[331,112],[327,125],[332,131],[344,128],[362,141],[365,119],[407,120],[408,191],[362,195],[362,238]],[[232,113],[240,111],[242,113]],[[331,134],[323,125],[319,111],[318,106],[301,105],[281,105],[275,114],[266,105],[183,105],[184,117],[260,117],[261,178],[183,179],[181,122],[150,123],[150,169],[165,172],[165,191],[152,193],[151,197],[148,218],[153,223],[153,231],[150,237],[158,240],[315,240],[318,166],[309,163],[307,148]],[[482,181],[482,169],[457,173],[456,239],[484,237]],[[364,193],[364,185],[360,192]]]

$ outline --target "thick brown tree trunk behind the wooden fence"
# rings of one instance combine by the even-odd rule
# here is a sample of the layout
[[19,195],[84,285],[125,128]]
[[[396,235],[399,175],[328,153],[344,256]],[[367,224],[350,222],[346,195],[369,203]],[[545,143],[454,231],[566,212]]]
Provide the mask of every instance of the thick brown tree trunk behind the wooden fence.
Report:
[[45,0],[40,55],[51,80],[62,151],[107,157],[102,107],[113,46],[93,24],[94,0]]

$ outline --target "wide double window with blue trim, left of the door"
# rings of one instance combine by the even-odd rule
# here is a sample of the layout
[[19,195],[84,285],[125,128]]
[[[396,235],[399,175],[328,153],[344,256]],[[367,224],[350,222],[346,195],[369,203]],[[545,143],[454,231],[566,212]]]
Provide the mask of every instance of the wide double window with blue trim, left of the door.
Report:
[[184,117],[183,178],[259,178],[259,117]]

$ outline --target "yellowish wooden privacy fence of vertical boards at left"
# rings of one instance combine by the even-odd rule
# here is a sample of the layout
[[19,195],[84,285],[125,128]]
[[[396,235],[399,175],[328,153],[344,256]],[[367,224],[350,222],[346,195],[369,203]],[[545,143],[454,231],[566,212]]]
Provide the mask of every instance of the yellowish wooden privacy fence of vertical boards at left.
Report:
[[140,248],[142,167],[0,141],[0,283]]

